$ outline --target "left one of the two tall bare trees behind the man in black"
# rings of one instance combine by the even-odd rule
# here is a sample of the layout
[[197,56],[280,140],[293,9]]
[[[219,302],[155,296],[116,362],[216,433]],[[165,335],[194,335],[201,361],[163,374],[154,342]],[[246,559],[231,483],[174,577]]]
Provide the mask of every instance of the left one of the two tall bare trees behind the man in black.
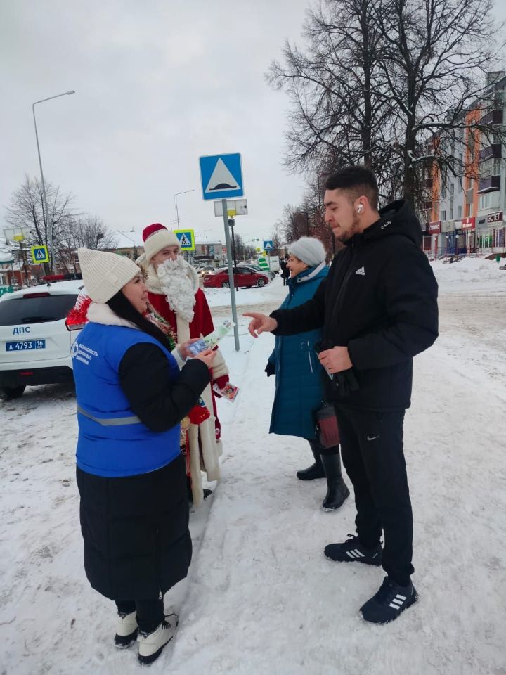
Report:
[[395,111],[384,94],[376,0],[323,0],[304,25],[305,52],[285,44],[285,65],[267,79],[292,99],[287,133],[289,169],[320,174],[363,163],[388,194],[398,174],[391,138]]

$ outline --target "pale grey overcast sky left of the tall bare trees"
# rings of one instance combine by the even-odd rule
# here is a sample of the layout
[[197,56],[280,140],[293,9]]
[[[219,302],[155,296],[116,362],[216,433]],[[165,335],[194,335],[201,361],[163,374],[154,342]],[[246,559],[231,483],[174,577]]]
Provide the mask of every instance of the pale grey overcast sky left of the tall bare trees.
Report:
[[223,238],[198,158],[240,152],[237,231],[268,238],[304,177],[283,167],[288,100],[264,73],[285,39],[302,44],[308,4],[0,0],[0,229],[25,174],[39,177],[32,103],[75,89],[35,108],[44,177],[75,207],[112,230],[175,229],[174,193],[194,189],[178,197],[181,229]]

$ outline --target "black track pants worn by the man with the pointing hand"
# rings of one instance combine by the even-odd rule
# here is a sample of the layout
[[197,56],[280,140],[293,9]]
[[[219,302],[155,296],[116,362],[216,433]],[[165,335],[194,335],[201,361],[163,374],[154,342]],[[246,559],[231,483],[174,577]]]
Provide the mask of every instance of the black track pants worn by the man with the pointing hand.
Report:
[[413,513],[403,454],[404,411],[336,407],[341,455],[353,483],[356,532],[372,548],[384,533],[383,569],[406,586],[413,574]]

